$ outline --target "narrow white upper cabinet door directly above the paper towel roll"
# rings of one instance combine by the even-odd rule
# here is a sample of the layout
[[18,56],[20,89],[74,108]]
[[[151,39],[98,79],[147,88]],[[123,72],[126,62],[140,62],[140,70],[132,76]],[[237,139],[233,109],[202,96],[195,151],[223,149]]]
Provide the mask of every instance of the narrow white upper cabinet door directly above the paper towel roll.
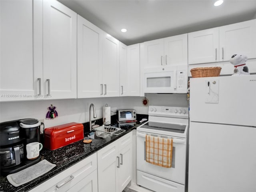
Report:
[[109,34],[103,40],[103,84],[104,96],[119,96],[119,41]]

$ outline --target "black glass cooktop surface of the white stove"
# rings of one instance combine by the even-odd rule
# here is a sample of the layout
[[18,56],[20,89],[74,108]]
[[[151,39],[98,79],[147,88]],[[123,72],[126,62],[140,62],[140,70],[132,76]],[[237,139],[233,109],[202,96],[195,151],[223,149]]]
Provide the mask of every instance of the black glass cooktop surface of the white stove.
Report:
[[159,123],[159,122],[148,122],[141,127],[147,128],[147,129],[176,132],[176,133],[184,133],[186,129],[186,125]]

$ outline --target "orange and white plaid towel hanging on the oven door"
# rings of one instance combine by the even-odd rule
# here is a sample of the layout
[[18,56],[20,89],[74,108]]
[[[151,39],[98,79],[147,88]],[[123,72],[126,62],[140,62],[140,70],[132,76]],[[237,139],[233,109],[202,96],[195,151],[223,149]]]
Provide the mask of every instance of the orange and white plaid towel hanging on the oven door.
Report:
[[146,135],[146,162],[161,167],[172,166],[172,139]]

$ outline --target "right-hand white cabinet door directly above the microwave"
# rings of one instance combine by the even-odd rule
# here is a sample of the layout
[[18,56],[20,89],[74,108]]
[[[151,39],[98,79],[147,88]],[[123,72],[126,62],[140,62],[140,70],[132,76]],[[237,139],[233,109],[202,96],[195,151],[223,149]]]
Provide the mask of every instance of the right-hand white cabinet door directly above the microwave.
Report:
[[164,65],[188,64],[188,34],[164,38]]

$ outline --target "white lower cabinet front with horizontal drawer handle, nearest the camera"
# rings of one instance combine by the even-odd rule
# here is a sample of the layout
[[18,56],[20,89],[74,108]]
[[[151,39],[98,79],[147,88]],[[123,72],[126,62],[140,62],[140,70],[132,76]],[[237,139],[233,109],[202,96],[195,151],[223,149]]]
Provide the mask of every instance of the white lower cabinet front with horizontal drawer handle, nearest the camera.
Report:
[[97,154],[94,153],[33,188],[30,192],[98,192],[97,184]]

